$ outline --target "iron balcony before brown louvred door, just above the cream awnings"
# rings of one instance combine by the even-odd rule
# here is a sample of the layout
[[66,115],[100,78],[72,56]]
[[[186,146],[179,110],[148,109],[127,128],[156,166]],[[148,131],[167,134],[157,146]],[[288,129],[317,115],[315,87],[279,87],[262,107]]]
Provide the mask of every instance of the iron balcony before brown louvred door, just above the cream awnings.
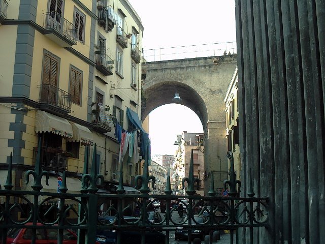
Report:
[[50,84],[39,85],[40,108],[51,113],[67,114],[71,112],[71,94]]

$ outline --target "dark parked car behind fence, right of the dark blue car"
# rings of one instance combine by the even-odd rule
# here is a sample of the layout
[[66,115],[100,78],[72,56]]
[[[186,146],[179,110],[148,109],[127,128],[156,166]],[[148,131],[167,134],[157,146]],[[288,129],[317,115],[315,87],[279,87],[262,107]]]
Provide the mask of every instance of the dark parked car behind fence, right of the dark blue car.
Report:
[[[180,222],[183,222],[186,217],[183,217],[183,219]],[[196,222],[199,224],[204,223],[205,219],[202,216],[194,216],[194,219]],[[185,222],[185,224],[188,224],[188,220]],[[193,220],[191,222],[191,225],[197,225]],[[200,238],[201,240],[204,240],[205,235],[208,235],[209,231],[208,230],[202,230],[202,229],[197,229],[197,230],[191,230],[191,240],[194,238]],[[177,227],[175,231],[175,240],[179,239],[186,239],[188,238],[188,231],[184,230],[184,227]]]

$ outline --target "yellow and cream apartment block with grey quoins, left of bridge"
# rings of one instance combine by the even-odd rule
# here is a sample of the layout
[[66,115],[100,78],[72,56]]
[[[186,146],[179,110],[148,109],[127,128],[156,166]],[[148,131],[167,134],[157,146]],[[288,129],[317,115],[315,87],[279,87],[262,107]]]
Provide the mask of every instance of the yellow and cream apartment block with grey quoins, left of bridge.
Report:
[[[77,180],[71,191],[80,189],[86,146],[92,155],[96,143],[110,190],[120,172],[115,128],[138,131],[127,110],[140,114],[142,33],[127,0],[0,0],[0,172],[13,153],[15,189],[24,188],[41,140],[43,169],[54,179],[67,170]],[[134,184],[139,150],[120,161],[124,184]]]

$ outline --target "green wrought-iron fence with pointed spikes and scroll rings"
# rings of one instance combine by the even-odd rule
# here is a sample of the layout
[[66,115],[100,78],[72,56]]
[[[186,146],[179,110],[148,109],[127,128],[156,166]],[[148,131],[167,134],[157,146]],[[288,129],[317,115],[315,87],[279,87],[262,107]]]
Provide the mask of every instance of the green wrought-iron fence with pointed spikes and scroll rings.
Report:
[[[96,194],[98,182],[103,182],[104,177],[96,174],[96,145],[93,147],[93,157],[90,173],[84,171],[80,193],[70,193],[70,186],[67,186],[66,171],[61,176],[62,183],[59,185],[59,193],[41,191],[42,177],[46,182],[49,172],[42,170],[41,166],[41,140],[34,170],[26,172],[26,184],[31,176],[34,177],[32,191],[13,190],[12,184],[12,157],[8,166],[8,177],[4,189],[0,190],[0,230],[2,243],[6,243],[9,229],[26,228],[31,229],[31,243],[36,243],[40,238],[40,230],[54,230],[57,233],[57,243],[63,243],[64,231],[76,232],[78,243],[95,243],[96,233],[101,230],[111,230],[116,234],[116,243],[123,243],[123,231],[137,231],[141,236],[141,243],[145,241],[146,232],[158,231],[164,235],[165,243],[169,243],[172,231],[185,231],[188,239],[195,233],[194,230],[205,231],[212,235],[215,230],[230,230],[231,243],[234,243],[234,232],[238,228],[250,229],[250,240],[246,243],[253,243],[253,228],[266,227],[268,225],[268,198],[255,198],[251,191],[249,197],[238,197],[240,192],[240,181],[235,180],[235,173],[232,161],[230,180],[224,181],[224,187],[229,189],[229,197],[216,197],[213,188],[213,176],[211,178],[211,189],[209,196],[196,196],[194,185],[198,178],[193,177],[193,160],[191,158],[189,176],[183,178],[182,185],[187,186],[186,196],[171,195],[170,177],[167,178],[166,195],[149,195],[149,182],[155,184],[155,178],[149,175],[148,160],[145,160],[142,175],[135,178],[136,186],[141,194],[124,194],[123,174],[119,175],[117,194]],[[89,147],[85,150],[84,169],[89,166]],[[231,156],[230,156],[231,159]],[[120,171],[123,171],[122,164]],[[185,184],[185,182],[187,184]],[[141,184],[141,187],[140,187]],[[252,186],[251,186],[252,189]],[[166,212],[161,219],[151,222],[148,219],[148,212],[151,210],[153,201],[166,202]],[[181,221],[176,221],[178,215],[177,206],[173,202],[181,202],[185,207],[186,214]],[[103,204],[105,207],[103,208]],[[137,210],[137,215],[135,210]],[[136,221],[128,221],[125,216],[138,216]],[[76,218],[73,218],[75,216]],[[197,216],[204,216],[204,221],[199,223]],[[106,221],[108,218],[111,221]],[[161,231],[161,232],[160,232]],[[194,231],[194,232],[193,232]],[[157,233],[158,233],[157,232]],[[155,242],[157,243],[157,242]],[[190,243],[190,241],[188,241]]]

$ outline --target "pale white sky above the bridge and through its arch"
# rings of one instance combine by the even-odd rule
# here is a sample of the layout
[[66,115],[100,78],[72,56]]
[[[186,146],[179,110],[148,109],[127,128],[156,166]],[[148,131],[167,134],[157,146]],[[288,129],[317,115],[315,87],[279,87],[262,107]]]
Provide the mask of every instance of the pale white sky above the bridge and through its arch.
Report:
[[[144,27],[144,56],[150,49],[236,41],[235,0],[128,2]],[[149,114],[151,155],[174,155],[177,148],[173,143],[183,131],[203,133],[201,121],[192,110],[179,104],[153,110]]]

